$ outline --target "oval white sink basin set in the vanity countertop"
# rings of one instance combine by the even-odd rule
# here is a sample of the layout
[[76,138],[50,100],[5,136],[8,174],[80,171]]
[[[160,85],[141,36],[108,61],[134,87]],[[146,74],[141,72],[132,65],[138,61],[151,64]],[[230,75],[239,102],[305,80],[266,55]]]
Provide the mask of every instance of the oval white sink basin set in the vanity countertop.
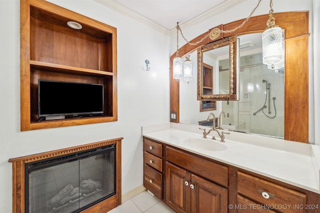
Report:
[[226,146],[224,146],[221,142],[215,142],[211,139],[190,138],[184,140],[184,143],[188,146],[206,151],[222,151],[226,149]]

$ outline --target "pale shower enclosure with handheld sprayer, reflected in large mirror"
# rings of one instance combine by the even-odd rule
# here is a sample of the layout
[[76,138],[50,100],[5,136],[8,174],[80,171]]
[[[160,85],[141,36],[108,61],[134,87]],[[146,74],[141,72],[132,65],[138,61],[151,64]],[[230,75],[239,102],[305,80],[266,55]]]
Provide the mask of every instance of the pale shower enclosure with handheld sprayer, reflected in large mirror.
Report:
[[[239,100],[223,101],[225,128],[283,138],[284,70],[268,69],[262,53],[240,55]],[[222,73],[220,73],[221,75]]]

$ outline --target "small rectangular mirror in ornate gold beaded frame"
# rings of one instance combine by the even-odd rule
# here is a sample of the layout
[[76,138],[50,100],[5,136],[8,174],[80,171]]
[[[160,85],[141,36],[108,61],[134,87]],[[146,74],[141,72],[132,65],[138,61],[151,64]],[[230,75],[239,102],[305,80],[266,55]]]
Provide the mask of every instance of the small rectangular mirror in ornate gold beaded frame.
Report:
[[[197,49],[197,100],[237,100],[236,51],[236,36]],[[214,77],[208,78],[207,66]]]

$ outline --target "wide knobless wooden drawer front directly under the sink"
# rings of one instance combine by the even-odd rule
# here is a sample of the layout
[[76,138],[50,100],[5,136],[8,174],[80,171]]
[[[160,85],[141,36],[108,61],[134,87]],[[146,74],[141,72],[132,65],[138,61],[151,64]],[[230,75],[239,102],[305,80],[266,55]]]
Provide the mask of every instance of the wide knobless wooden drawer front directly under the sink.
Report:
[[167,161],[223,187],[228,186],[227,167],[171,147],[166,147],[165,153]]

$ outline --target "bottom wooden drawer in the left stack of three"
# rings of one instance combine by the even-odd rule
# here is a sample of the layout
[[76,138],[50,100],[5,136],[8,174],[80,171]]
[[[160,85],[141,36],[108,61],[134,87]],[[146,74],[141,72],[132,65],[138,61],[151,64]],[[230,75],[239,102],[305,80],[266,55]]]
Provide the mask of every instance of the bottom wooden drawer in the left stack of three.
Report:
[[143,164],[143,186],[162,200],[162,173]]

